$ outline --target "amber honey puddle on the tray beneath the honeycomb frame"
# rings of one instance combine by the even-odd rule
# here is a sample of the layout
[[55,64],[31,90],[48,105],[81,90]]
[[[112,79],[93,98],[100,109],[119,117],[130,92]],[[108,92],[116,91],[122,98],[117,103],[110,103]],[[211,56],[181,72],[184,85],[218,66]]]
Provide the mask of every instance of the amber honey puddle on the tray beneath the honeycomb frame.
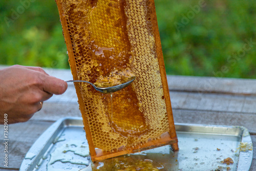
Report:
[[[174,162],[169,162],[172,160]],[[92,170],[100,171],[147,171],[147,170],[178,170],[179,162],[169,145],[148,150],[147,152],[123,155],[92,163]]]

